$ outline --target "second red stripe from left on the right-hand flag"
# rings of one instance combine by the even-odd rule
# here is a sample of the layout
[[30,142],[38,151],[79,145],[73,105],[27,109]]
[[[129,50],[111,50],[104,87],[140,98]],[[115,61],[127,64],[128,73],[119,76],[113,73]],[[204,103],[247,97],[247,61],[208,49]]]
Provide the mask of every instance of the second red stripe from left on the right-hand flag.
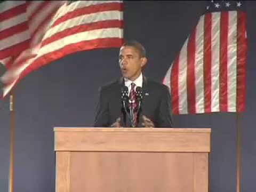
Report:
[[188,90],[188,111],[190,114],[196,113],[196,95],[195,95],[195,49],[196,49],[196,29],[190,35],[187,51],[187,90]]

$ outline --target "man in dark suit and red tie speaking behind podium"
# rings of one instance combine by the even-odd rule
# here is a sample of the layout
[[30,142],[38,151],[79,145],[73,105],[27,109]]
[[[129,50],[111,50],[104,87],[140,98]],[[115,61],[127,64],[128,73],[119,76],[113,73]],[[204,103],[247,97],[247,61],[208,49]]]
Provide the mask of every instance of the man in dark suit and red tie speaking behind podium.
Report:
[[[126,86],[129,94],[134,92],[135,87],[142,87],[141,105],[134,115],[136,127],[172,127],[169,88],[142,75],[142,68],[146,63],[146,51],[139,42],[131,41],[122,45],[119,66],[123,76],[101,87],[94,126],[131,126],[129,113],[121,105],[121,90]],[[129,101],[130,105],[131,98]]]

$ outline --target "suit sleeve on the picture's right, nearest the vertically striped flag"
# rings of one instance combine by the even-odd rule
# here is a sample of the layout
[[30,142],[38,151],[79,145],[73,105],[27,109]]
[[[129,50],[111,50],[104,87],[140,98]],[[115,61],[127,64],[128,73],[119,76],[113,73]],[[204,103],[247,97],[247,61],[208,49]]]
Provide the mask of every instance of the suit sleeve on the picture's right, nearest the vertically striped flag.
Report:
[[165,86],[159,106],[158,127],[170,128],[172,126],[171,95],[169,88]]

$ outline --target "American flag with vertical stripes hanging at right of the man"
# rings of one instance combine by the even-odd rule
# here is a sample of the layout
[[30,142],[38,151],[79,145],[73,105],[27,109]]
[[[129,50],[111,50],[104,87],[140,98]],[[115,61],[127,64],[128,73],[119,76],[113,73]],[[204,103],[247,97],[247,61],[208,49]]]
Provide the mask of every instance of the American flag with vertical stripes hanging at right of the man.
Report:
[[246,12],[242,1],[211,1],[167,70],[173,114],[245,109]]

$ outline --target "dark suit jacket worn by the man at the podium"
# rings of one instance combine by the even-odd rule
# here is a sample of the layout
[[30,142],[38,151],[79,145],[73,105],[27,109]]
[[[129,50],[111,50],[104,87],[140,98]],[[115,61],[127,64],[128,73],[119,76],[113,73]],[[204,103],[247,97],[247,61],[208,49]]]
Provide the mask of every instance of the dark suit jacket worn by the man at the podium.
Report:
[[[121,104],[121,90],[124,86],[123,77],[117,81],[100,88],[100,99],[95,115],[94,126],[109,127],[118,117],[124,114]],[[139,124],[141,127],[142,115],[153,121],[155,127],[172,127],[171,117],[171,97],[169,88],[163,84],[150,81],[143,77],[142,83],[142,102],[139,113]],[[123,122],[122,126],[127,126]]]

